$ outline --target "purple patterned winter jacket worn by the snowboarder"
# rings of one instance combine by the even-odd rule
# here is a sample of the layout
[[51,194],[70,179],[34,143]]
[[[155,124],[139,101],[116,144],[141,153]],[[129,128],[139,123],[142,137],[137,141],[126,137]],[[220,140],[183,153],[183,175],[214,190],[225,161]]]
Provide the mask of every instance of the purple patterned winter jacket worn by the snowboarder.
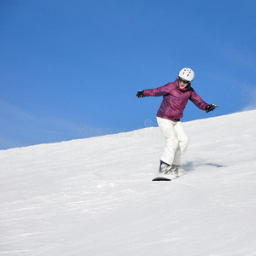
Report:
[[170,119],[174,122],[179,121],[183,117],[183,110],[189,100],[201,110],[206,110],[208,105],[192,87],[187,86],[183,90],[180,89],[177,79],[159,88],[144,90],[144,96],[163,96],[157,116],[162,119]]

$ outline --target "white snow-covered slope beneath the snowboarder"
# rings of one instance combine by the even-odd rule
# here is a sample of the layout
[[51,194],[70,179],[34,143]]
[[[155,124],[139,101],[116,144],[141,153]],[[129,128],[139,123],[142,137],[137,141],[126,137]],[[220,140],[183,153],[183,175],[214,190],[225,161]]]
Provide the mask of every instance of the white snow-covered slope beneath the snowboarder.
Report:
[[0,255],[256,255],[256,111],[183,124],[171,182],[158,127],[0,151]]

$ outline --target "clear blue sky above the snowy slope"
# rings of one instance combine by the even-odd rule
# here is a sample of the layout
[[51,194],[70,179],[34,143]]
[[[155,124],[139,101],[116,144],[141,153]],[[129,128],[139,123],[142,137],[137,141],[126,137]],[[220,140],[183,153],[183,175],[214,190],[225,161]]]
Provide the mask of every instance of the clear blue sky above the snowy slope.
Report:
[[189,102],[183,121],[255,108],[255,11],[254,0],[1,0],[0,149],[156,126],[161,98],[137,90],[183,67],[218,105]]

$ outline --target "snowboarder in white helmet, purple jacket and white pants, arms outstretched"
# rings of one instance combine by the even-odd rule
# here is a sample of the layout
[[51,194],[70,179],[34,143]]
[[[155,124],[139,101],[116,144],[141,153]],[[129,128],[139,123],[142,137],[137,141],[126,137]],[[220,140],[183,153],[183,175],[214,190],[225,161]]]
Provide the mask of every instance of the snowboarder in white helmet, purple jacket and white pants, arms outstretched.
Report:
[[207,113],[218,107],[215,104],[207,104],[195,92],[191,87],[194,78],[194,71],[189,67],[184,67],[174,82],[159,88],[137,92],[137,98],[163,96],[156,117],[160,131],[166,137],[166,147],[160,156],[161,176],[167,175],[167,177],[175,178],[185,172],[180,163],[189,146],[189,137],[180,119],[183,117],[183,110],[188,101],[190,100],[196,107]]

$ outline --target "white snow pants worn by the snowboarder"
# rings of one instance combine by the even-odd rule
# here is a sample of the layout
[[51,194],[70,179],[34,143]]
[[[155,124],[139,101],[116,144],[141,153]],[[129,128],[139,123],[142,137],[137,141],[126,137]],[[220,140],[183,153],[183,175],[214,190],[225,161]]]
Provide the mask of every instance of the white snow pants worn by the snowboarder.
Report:
[[160,131],[166,137],[166,147],[160,160],[168,165],[180,165],[183,154],[189,146],[189,137],[183,124],[169,119],[156,118]]

